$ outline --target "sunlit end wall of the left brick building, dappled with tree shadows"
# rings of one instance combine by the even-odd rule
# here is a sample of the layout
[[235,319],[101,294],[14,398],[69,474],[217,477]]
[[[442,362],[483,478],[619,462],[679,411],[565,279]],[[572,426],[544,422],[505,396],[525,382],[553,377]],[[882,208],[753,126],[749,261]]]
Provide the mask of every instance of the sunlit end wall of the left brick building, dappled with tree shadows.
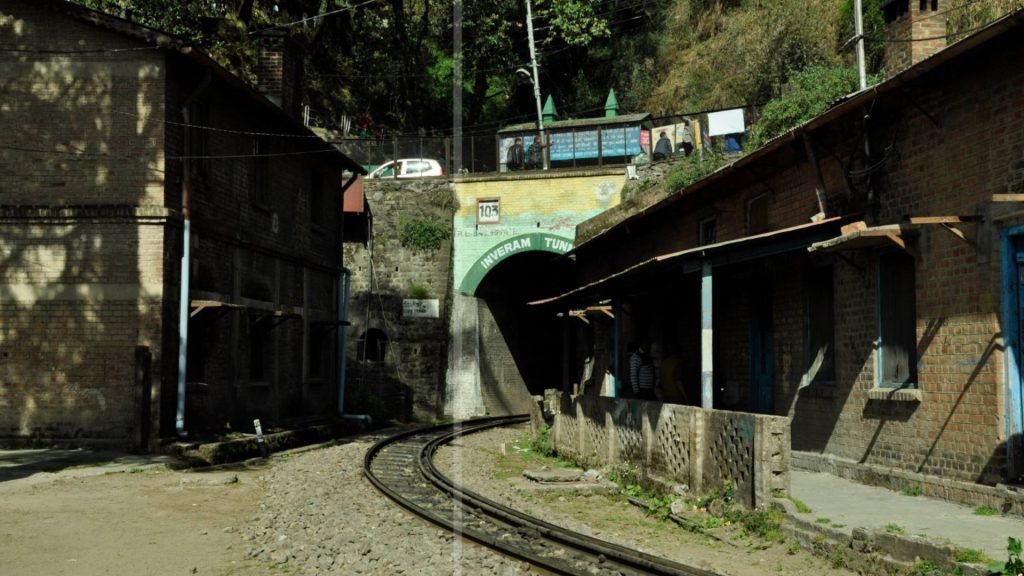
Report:
[[[104,52],[138,43],[29,2],[0,8],[0,43],[27,50],[0,55],[0,442],[144,446],[173,216],[164,56]],[[69,48],[99,51],[32,51]]]

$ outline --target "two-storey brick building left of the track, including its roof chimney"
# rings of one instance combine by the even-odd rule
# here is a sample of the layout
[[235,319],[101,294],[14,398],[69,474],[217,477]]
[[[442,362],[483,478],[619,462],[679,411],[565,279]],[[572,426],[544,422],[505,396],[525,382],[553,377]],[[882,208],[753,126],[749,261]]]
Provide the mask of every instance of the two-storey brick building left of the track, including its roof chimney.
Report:
[[0,439],[146,447],[331,411],[361,169],[297,120],[288,55],[261,94],[51,0],[0,5]]

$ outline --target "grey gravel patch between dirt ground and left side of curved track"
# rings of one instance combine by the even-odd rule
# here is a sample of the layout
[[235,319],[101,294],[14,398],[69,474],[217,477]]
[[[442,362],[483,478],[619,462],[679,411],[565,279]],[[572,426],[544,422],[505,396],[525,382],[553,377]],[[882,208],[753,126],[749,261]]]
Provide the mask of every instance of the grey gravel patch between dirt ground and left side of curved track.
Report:
[[536,574],[414,517],[362,476],[376,439],[273,458],[243,529],[250,558],[283,574]]

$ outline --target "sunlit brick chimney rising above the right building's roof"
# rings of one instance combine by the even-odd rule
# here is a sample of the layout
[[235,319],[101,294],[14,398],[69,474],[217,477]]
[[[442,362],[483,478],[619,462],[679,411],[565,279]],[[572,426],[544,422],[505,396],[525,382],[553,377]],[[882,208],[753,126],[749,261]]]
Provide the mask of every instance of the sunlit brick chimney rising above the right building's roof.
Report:
[[946,47],[946,14],[939,3],[939,0],[883,1],[888,40],[886,76],[892,77]]

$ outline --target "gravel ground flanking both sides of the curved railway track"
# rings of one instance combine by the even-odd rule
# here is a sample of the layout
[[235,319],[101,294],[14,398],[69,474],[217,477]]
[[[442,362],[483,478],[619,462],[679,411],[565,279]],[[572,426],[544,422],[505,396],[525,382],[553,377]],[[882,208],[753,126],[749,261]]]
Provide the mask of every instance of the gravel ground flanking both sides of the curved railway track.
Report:
[[[725,530],[731,544],[647,517],[593,493],[538,490],[518,479],[528,465],[513,446],[525,427],[473,435],[441,450],[438,466],[456,483],[578,532],[730,576],[853,574],[787,544],[767,545]],[[407,512],[364,477],[374,438],[273,458],[258,511],[241,532],[246,552],[282,574],[537,574]],[[504,445],[504,454],[502,446]]]

